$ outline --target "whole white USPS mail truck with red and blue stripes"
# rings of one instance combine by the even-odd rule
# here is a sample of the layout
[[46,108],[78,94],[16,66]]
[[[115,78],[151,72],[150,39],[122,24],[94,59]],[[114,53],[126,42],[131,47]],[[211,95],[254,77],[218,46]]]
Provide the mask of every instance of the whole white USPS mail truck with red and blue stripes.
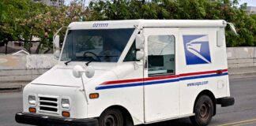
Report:
[[[130,126],[190,117],[194,125],[207,125],[217,105],[235,102],[228,81],[227,24],[225,20],[71,23],[58,65],[24,87],[23,112],[16,114],[16,121]],[[58,39],[56,35],[57,47]]]

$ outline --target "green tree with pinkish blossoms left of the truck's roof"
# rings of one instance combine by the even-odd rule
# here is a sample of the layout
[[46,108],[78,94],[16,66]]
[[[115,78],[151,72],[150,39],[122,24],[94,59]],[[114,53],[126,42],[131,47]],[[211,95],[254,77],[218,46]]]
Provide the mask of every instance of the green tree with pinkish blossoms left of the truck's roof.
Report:
[[65,27],[60,33],[64,38],[68,24],[85,19],[85,9],[77,2],[56,8],[31,0],[2,0],[0,7],[0,43],[24,42],[31,53],[31,43],[38,42],[36,54],[52,49],[52,37],[59,28]]

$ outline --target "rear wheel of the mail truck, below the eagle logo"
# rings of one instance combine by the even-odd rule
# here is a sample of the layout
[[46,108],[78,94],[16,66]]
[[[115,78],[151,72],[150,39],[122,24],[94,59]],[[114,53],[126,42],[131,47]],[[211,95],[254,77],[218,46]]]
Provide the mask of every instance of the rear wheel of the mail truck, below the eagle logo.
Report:
[[213,101],[207,95],[201,95],[194,105],[194,116],[190,117],[194,125],[205,126],[213,117]]

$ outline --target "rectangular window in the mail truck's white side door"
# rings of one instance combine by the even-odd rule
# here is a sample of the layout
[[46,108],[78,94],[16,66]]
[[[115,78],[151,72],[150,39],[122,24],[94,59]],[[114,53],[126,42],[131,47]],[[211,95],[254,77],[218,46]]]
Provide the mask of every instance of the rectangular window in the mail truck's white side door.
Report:
[[149,35],[149,76],[175,74],[175,36]]

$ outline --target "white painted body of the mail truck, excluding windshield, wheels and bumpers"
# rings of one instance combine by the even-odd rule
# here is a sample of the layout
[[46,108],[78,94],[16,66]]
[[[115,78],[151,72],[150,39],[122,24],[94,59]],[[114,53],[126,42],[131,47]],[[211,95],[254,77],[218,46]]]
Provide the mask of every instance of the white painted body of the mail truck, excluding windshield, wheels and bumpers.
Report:
[[[58,65],[24,87],[24,112],[28,112],[28,108],[33,107],[28,104],[28,95],[35,95],[36,109],[40,109],[39,97],[57,98],[57,112],[37,111],[36,113],[58,117],[62,117],[61,98],[70,99],[70,109],[66,110],[70,111],[72,118],[100,117],[100,114],[111,106],[122,106],[127,109],[135,125],[194,115],[194,102],[201,91],[211,91],[215,98],[230,96],[224,37],[218,39],[223,41],[223,46],[221,42],[218,42],[220,44],[217,46],[217,31],[224,33],[226,24],[224,20],[74,22],[69,25],[68,30],[134,28],[134,32],[118,61],[92,61],[89,64],[95,69],[92,78],[87,78],[84,74],[81,80],[73,77],[72,74],[75,65],[85,67],[87,61],[72,61],[68,65],[64,65],[66,61],[58,61]],[[140,30],[145,37],[144,59],[124,61],[134,43],[135,35]],[[159,51],[157,48],[163,48],[160,44],[157,46],[149,42],[149,36],[153,36],[151,39],[154,42],[161,38],[157,38],[156,35],[171,35],[171,41],[174,43],[160,43],[170,50]],[[155,45],[152,46],[153,44]],[[148,57],[153,54],[171,54],[164,57],[164,61],[171,64],[164,66],[168,70],[162,68],[155,68],[159,70],[153,72],[149,70],[148,64],[145,63],[148,63]],[[191,59],[191,55],[194,60]],[[173,72],[168,75],[149,76],[154,72],[168,72],[170,69]],[[82,81],[85,83],[85,91]],[[98,93],[100,97],[90,99],[88,95],[91,93]]]

